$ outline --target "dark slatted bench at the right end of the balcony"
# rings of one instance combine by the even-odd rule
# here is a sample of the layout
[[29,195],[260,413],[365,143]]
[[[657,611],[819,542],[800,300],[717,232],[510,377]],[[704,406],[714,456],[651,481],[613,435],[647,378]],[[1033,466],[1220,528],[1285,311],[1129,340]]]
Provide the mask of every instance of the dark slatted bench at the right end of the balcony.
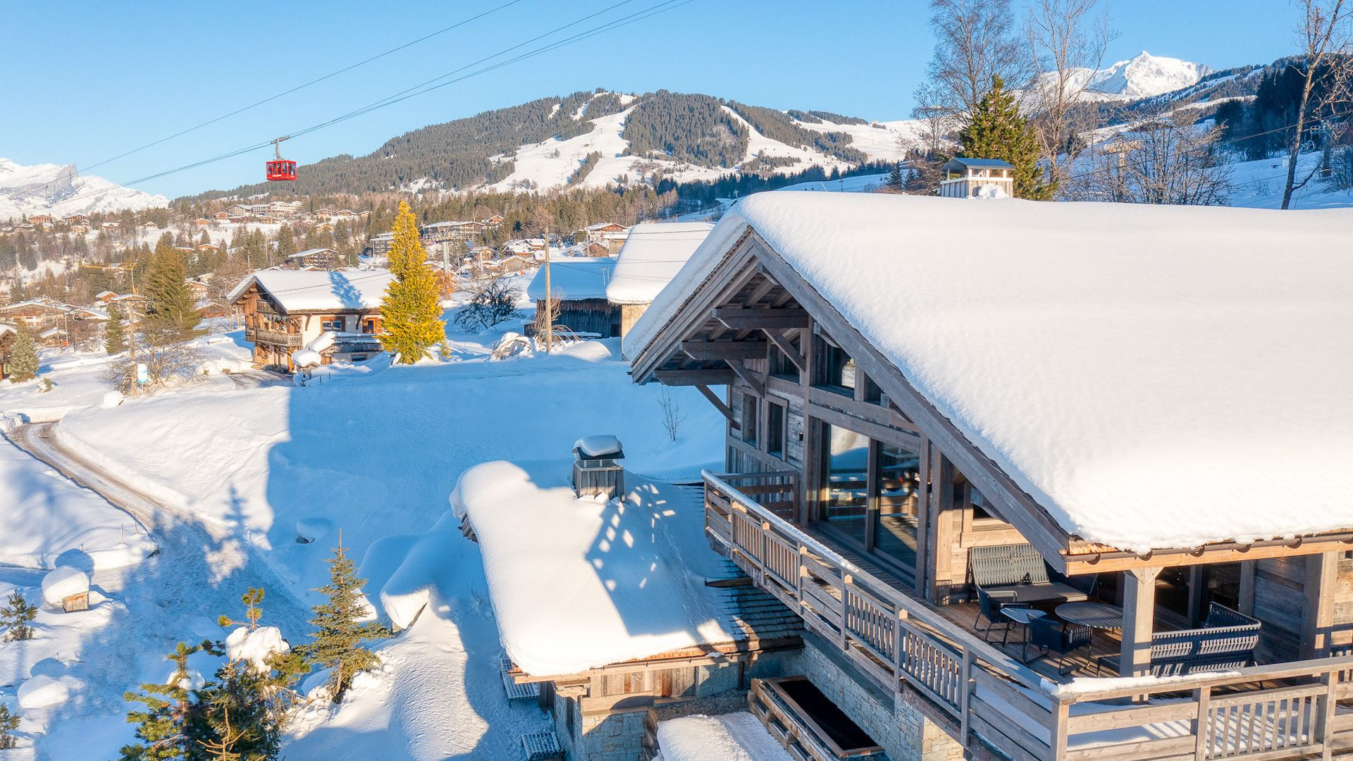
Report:
[[[1262,624],[1226,605],[1212,603],[1203,628],[1158,631],[1151,635],[1150,674],[1157,677],[1229,672],[1254,665]],[[1118,655],[1096,659],[1095,673],[1118,673]]]

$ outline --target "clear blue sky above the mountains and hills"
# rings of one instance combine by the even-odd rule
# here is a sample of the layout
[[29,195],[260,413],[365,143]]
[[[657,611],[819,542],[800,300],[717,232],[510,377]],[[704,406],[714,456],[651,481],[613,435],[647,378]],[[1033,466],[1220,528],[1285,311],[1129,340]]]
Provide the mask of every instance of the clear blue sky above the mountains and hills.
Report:
[[[81,171],[507,0],[395,4],[20,3],[0,24],[0,157]],[[89,172],[129,181],[325,122],[620,0],[515,4],[338,77]],[[630,0],[567,32],[653,7]],[[1019,0],[1016,0],[1019,3]],[[1292,50],[1285,0],[1101,0],[1141,50],[1212,68]],[[369,153],[429,123],[578,89],[705,92],[777,108],[905,118],[931,54],[924,0],[693,0],[285,144],[288,158]],[[530,50],[536,45],[518,50]],[[141,183],[169,196],[256,181],[271,149]]]

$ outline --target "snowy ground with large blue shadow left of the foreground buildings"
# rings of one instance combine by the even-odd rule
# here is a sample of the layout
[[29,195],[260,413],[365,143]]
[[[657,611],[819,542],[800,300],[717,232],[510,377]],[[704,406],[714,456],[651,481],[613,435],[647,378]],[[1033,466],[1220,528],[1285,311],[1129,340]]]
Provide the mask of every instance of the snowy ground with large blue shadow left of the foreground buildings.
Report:
[[[365,558],[373,603],[422,594],[429,605],[379,645],[382,669],[359,678],[341,708],[300,711],[288,758],[502,758],[518,735],[543,730],[538,708],[509,707],[503,696],[478,546],[437,527],[452,486],[484,460],[567,458],[574,440],[591,433],[620,436],[635,471],[690,478],[721,459],[723,424],[698,394],[678,390],[689,418],[671,443],[659,389],[630,383],[618,341],[488,360],[507,328],[452,332],[448,363],[373,362],[308,386],[212,374],[104,406],[106,362],[91,355],[45,360],[42,374],[55,382],[49,393],[34,383],[0,386],[0,410],[60,417],[43,441],[83,458],[91,478],[106,483],[100,490],[154,517],[147,523],[161,547],[138,565],[96,570],[91,611],[43,613],[37,639],[0,646],[0,685],[8,685],[0,700],[24,716],[18,757],[115,756],[131,739],[122,692],[165,678],[164,654],[175,642],[223,638],[214,619],[238,613],[245,586],[267,586],[264,623],[294,643],[303,639],[311,590],[340,529],[350,554]],[[246,359],[237,333],[214,340],[222,362]],[[99,516],[122,516],[12,454],[0,466],[15,469],[15,478],[50,482],[74,494],[73,504],[97,505]],[[107,520],[91,524],[111,529]],[[302,535],[311,542],[298,542]],[[60,544],[53,538],[51,547]],[[0,594],[7,584],[34,588],[39,580],[0,567]],[[41,708],[16,700],[32,677],[55,682],[39,680],[45,697],[30,703]]]

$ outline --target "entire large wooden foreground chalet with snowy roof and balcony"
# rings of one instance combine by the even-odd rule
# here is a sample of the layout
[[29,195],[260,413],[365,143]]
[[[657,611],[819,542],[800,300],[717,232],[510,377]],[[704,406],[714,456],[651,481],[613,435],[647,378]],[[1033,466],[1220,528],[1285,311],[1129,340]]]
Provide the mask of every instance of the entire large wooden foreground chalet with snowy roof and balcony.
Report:
[[890,758],[1353,750],[1353,213],[1285,214],[735,206],[624,353],[725,418],[777,676]]

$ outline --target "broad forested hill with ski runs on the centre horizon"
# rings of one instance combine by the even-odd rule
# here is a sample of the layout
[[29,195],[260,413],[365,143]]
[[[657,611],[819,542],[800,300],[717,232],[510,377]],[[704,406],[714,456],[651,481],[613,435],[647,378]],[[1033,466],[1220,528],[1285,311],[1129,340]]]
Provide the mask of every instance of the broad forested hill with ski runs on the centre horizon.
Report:
[[[609,135],[598,135],[594,121],[628,114],[610,122],[616,126]],[[805,123],[825,121],[840,125],[867,125],[863,119],[827,111],[794,111]],[[740,119],[739,119],[740,116]],[[746,123],[744,123],[746,121]],[[725,102],[700,93],[679,93],[660,89],[639,96],[598,89],[567,96],[541,97],[520,106],[484,111],[474,116],[430,125],[387,141],[367,156],[334,156],[302,165],[299,179],[285,186],[257,183],[231,191],[208,191],[184,200],[206,200],[222,196],[269,195],[323,195],[341,192],[380,192],[399,188],[471,190],[505,183],[522,168],[518,152],[547,141],[563,144],[572,138],[612,138],[609,152],[598,152],[589,145],[578,154],[576,162],[559,181],[521,183],[518,190],[543,190],[582,183],[602,158],[633,157],[630,161],[664,161],[689,165],[706,172],[694,180],[710,180],[717,171],[750,172],[763,179],[769,175],[797,173],[806,167],[802,157],[748,156],[750,130],[783,144],[786,150],[816,152],[819,164],[833,162],[859,165],[870,160],[863,150],[851,146],[851,135],[844,131],[805,129],[789,114],[773,108]],[[597,142],[597,139],[593,139]],[[532,160],[543,158],[537,150]],[[570,161],[548,148],[544,158]],[[764,153],[764,152],[760,152]],[[746,167],[744,167],[746,162]],[[664,167],[671,169],[672,167]],[[641,171],[624,172],[626,179],[641,180]],[[597,184],[610,181],[613,173],[595,179]],[[668,175],[670,176],[670,175]],[[515,180],[513,180],[515,181]]]

